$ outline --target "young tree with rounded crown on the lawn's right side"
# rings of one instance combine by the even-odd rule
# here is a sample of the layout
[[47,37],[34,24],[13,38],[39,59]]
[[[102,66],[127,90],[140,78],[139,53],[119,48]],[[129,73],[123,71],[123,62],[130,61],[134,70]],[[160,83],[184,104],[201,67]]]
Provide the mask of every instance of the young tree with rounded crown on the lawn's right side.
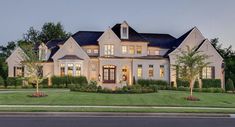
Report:
[[198,79],[201,70],[209,64],[205,62],[209,56],[196,50],[196,48],[186,46],[186,50],[179,50],[175,55],[176,64],[173,65],[180,77],[190,83],[190,97],[193,96],[195,80]]

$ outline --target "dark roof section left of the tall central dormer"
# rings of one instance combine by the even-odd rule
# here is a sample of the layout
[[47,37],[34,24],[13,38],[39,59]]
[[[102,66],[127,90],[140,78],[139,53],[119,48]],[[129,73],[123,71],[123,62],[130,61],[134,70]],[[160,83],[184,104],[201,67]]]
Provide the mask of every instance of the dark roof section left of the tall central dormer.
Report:
[[80,46],[98,45],[98,39],[104,32],[100,31],[78,31],[72,37]]

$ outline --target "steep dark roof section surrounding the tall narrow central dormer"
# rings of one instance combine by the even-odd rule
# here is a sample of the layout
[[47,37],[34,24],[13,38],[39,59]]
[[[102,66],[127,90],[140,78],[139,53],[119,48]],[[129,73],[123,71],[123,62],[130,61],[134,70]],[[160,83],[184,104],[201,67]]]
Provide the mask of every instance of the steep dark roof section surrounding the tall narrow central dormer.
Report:
[[[121,39],[121,24],[116,24],[112,28],[113,32]],[[132,27],[129,26],[129,38],[128,39],[121,39],[123,41],[141,41],[141,42],[148,42],[141,34],[136,32]]]

